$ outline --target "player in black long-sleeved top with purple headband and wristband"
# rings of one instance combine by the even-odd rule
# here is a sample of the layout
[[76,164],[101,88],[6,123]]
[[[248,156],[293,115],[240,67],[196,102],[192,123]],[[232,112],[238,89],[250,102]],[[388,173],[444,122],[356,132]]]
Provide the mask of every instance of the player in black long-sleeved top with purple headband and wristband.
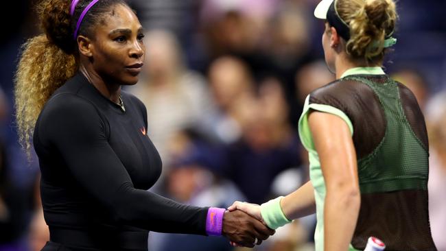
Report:
[[124,1],[44,0],[38,7],[45,34],[24,46],[16,114],[42,172],[50,231],[43,250],[147,250],[148,230],[224,235],[253,247],[274,233],[241,211],[146,191],[161,159],[146,134],[145,107],[121,91],[137,83],[145,52],[141,24]]

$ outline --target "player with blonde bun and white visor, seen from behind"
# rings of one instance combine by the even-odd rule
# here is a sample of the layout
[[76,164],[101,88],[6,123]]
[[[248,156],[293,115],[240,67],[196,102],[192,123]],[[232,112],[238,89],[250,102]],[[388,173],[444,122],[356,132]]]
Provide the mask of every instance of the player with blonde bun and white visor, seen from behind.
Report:
[[316,213],[316,250],[436,250],[427,207],[428,141],[414,95],[382,69],[397,21],[393,0],[322,0],[322,46],[336,81],[306,101],[299,136],[310,181],[261,206],[235,202],[278,228]]

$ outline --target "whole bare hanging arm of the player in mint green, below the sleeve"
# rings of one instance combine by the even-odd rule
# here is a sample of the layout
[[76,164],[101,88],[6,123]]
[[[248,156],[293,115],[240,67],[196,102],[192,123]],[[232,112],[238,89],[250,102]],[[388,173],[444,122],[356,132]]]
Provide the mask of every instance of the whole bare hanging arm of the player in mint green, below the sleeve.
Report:
[[327,187],[324,208],[324,250],[348,250],[360,211],[357,160],[351,132],[340,117],[309,115],[309,127]]

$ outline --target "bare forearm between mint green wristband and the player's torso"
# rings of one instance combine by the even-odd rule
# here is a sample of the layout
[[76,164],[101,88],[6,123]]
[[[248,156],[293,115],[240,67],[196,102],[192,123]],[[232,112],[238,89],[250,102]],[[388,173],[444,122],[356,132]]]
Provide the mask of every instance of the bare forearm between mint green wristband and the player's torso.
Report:
[[312,182],[307,182],[293,193],[286,195],[281,200],[281,208],[287,219],[298,219],[316,213]]

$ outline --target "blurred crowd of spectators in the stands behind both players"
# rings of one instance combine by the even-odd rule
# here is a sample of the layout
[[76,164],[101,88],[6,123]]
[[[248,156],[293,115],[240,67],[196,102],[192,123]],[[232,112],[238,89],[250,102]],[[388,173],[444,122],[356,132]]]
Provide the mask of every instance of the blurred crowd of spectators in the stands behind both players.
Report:
[[[1,17],[0,250],[40,250],[49,238],[38,163],[17,143],[13,79],[21,44],[40,33],[32,4]],[[297,134],[305,97],[334,80],[321,45],[318,0],[131,0],[145,27],[145,71],[124,88],[148,110],[148,135],[163,159],[154,189],[198,206],[262,203],[309,179]],[[398,2],[398,44],[386,72],[406,84],[430,137],[430,224],[446,251],[446,1]],[[408,219],[410,220],[410,219]],[[255,250],[314,250],[315,218],[277,230]],[[234,250],[223,237],[151,233],[151,251]]]

